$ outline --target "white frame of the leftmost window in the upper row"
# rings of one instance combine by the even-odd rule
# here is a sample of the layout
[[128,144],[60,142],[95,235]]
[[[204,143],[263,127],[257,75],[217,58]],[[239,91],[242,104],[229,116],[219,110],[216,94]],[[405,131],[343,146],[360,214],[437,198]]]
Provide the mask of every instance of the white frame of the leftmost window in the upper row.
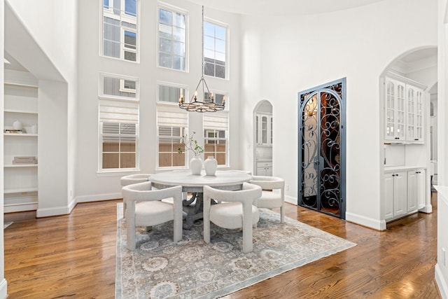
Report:
[[[136,16],[132,16],[130,14],[127,14],[125,11],[125,2],[126,0],[120,0],[120,13],[115,14],[115,8],[113,7],[113,0],[109,0],[109,7],[104,8],[104,0],[101,2],[101,10],[100,10],[100,39],[99,39],[99,55],[101,57],[111,58],[115,60],[122,60],[125,62],[134,62],[139,63],[140,62],[140,0],[136,0]],[[120,57],[113,57],[109,55],[104,54],[104,42],[106,41],[104,38],[104,18],[111,18],[113,20],[118,20],[120,22],[120,41],[114,41],[114,40],[107,40],[111,41],[113,43],[120,43]],[[135,25],[135,28],[127,27],[123,25],[123,22],[130,23],[132,25]],[[125,32],[134,32],[136,43],[135,43],[135,49],[129,48],[126,46],[125,43]],[[135,61],[134,60],[126,60],[125,54],[126,52],[129,53],[135,53]]]

